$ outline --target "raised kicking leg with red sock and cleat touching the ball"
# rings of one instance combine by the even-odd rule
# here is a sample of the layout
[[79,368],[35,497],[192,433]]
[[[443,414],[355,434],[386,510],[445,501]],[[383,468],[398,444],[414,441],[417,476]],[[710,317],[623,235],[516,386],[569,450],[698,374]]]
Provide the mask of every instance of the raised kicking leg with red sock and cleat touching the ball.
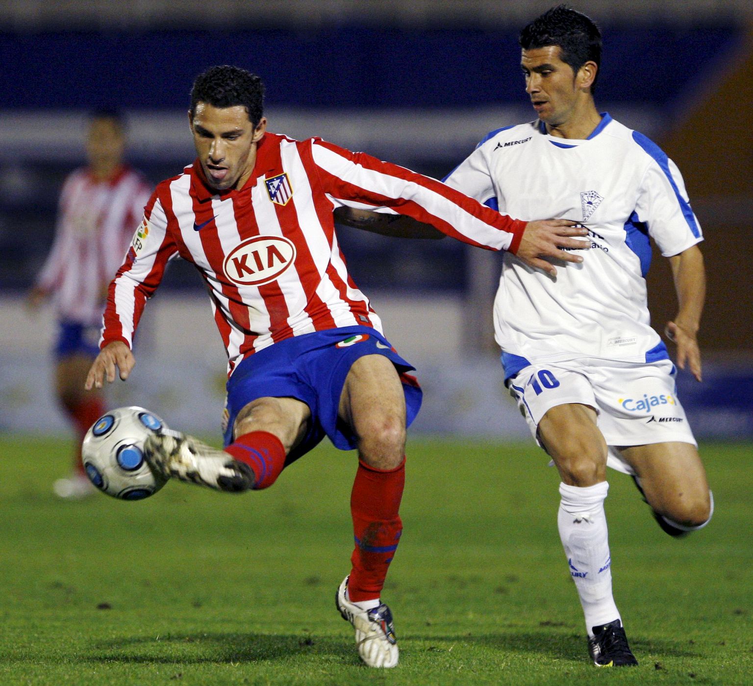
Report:
[[255,398],[237,414],[235,440],[218,450],[178,431],[154,434],[145,444],[152,468],[165,477],[226,492],[271,486],[285,456],[306,434],[311,413],[295,398]]

